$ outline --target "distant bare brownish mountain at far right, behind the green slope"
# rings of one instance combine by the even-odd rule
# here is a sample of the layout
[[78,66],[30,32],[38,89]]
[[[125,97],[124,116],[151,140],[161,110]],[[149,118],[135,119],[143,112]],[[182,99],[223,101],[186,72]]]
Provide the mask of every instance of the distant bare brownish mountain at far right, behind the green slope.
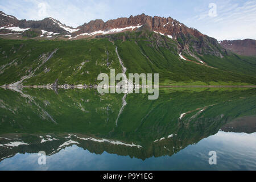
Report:
[[219,42],[222,47],[238,55],[256,56],[256,40],[222,40]]

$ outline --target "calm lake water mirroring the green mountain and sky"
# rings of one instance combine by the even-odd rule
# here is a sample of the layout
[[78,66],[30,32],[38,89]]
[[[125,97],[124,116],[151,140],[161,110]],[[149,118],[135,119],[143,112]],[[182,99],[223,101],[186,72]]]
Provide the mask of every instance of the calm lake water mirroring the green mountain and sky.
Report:
[[255,103],[255,88],[0,88],[0,170],[256,170]]

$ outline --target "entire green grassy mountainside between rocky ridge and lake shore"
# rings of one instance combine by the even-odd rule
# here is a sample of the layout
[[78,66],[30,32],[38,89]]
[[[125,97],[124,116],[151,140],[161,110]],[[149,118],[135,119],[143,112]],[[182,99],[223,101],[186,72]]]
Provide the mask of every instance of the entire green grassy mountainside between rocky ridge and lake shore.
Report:
[[[154,32],[123,32],[89,40],[0,39],[0,85],[97,84],[99,73],[159,73],[160,85],[255,85],[256,58],[197,55],[205,65],[180,59],[178,44]],[[52,57],[47,60],[47,57]],[[193,57],[189,57],[193,60]],[[47,60],[47,61],[46,61]]]

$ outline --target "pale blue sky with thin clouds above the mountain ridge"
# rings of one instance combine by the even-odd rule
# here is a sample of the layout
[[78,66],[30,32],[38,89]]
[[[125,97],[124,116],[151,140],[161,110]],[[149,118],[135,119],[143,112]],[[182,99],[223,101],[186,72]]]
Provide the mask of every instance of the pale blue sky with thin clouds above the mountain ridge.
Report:
[[256,39],[256,0],[0,0],[18,19],[52,17],[77,27],[130,15],[171,16],[217,40]]

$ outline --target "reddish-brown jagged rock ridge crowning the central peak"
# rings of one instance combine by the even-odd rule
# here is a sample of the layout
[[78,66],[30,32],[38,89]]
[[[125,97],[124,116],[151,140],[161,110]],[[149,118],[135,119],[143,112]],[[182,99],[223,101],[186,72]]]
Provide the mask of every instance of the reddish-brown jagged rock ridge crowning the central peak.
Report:
[[[224,49],[218,46],[216,39],[201,34],[195,28],[188,28],[171,17],[162,18],[141,14],[130,16],[129,18],[108,20],[107,22],[97,19],[77,28],[79,28],[79,31],[73,32],[71,39],[146,28],[149,31],[154,31],[156,34],[175,40],[178,43],[179,51],[185,50],[191,56],[193,56],[193,51],[189,50],[188,45],[191,45],[196,53],[210,53],[222,57],[222,52],[225,52]],[[197,60],[200,59],[198,58]]]

